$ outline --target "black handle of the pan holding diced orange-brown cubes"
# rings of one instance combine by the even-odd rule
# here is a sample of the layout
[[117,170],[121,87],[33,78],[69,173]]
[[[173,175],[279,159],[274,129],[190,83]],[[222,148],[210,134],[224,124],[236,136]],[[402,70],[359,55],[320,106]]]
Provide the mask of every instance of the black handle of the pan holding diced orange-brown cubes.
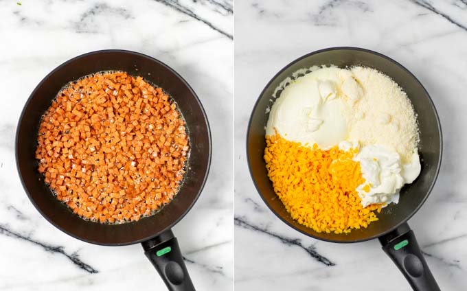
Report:
[[181,255],[179,242],[169,229],[141,243],[144,254],[161,275],[170,291],[195,291]]

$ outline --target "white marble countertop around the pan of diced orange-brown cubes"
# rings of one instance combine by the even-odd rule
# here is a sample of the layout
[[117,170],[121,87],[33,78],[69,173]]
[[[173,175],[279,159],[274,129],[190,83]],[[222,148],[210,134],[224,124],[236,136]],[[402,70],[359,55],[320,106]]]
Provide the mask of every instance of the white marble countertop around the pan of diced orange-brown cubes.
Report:
[[211,172],[174,233],[198,290],[233,287],[231,0],[0,1],[0,290],[166,290],[141,245],[87,244],[34,209],[19,181],[14,134],[23,104],[65,60],[130,49],[178,71],[213,137]]

